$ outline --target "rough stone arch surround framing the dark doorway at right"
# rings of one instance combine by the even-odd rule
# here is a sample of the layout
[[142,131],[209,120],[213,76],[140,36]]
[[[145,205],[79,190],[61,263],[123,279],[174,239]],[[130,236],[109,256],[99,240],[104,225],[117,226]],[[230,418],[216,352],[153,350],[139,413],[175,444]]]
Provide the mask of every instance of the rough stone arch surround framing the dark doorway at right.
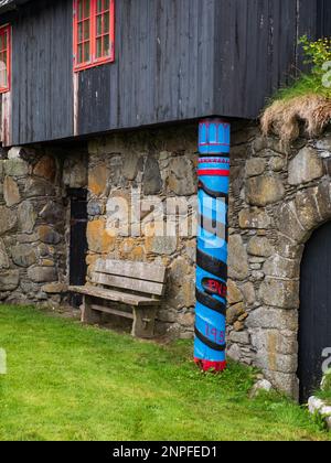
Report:
[[296,398],[299,387],[297,338],[301,259],[311,234],[329,220],[330,180],[322,180],[317,186],[299,191],[279,209],[278,252],[264,266],[265,280],[259,295],[266,308],[265,316],[273,317],[274,326],[279,330],[278,333],[271,330],[267,335],[268,367],[271,367],[267,376],[276,386]]

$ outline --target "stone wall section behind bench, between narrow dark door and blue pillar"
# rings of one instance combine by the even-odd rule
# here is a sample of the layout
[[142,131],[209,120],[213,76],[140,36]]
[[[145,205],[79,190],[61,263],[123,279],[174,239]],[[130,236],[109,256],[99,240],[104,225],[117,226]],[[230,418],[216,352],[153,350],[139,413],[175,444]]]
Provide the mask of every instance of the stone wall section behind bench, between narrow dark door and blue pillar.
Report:
[[192,337],[196,126],[108,136],[88,151],[88,273],[102,256],[167,266],[158,332]]

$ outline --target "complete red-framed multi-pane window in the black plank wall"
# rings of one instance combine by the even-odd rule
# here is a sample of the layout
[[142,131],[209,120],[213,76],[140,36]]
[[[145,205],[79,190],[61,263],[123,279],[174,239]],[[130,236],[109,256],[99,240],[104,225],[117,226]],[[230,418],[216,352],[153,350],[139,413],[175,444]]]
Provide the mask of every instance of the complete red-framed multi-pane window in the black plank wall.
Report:
[[74,69],[115,60],[115,0],[74,0]]

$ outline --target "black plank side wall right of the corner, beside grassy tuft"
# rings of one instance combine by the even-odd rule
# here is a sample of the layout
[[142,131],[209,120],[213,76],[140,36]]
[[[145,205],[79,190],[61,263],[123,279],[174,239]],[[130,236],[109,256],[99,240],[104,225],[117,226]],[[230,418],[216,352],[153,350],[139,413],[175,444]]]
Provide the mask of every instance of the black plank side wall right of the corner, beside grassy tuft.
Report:
[[216,22],[215,112],[255,118],[305,67],[299,37],[331,35],[331,1],[218,0]]

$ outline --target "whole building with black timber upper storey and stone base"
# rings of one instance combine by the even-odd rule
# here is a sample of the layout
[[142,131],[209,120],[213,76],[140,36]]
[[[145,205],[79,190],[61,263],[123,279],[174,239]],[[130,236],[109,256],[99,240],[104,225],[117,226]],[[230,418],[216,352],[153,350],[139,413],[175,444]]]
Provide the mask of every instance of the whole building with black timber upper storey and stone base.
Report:
[[303,34],[331,34],[329,0],[0,0],[0,300],[53,306],[99,257],[156,261],[168,268],[157,329],[192,336],[194,232],[156,230],[183,201],[179,223],[191,220],[197,121],[226,118],[229,355],[296,397],[299,379],[306,397],[331,345],[328,259],[299,286],[303,245],[331,220],[330,139],[303,140],[288,163],[256,125],[303,67]]

